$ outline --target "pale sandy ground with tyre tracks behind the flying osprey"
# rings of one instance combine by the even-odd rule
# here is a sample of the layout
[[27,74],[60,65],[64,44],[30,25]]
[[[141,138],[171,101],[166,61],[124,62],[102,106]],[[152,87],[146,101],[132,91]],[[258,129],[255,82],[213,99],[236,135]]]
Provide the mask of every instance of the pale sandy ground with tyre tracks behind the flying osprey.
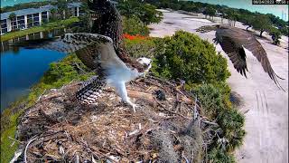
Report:
[[[202,25],[218,24],[220,21],[219,18],[215,18],[217,23],[212,23],[198,17],[165,11],[163,17],[162,23],[150,25],[151,36],[172,35],[182,29],[212,42],[214,32],[200,34],[194,29]],[[227,20],[224,20],[224,23],[227,23]],[[236,26],[246,28],[240,23]],[[238,162],[241,163],[288,162],[288,37],[282,37],[281,47],[271,44],[268,35],[266,38],[258,40],[265,48],[275,72],[285,79],[279,80],[285,92],[275,86],[252,54],[247,55],[250,72],[247,79],[241,76],[228,60],[228,69],[231,72],[228,83],[232,91],[237,91],[243,98],[244,104],[240,110],[247,112],[247,136],[244,145],[236,152]],[[228,59],[219,45],[216,48]]]

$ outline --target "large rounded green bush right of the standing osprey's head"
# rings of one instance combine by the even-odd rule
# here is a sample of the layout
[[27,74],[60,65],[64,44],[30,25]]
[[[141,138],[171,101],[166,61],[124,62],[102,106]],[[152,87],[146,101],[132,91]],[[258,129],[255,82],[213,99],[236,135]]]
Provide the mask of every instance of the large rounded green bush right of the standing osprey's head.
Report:
[[153,71],[169,79],[181,78],[189,84],[224,82],[228,79],[227,60],[213,44],[199,36],[178,31],[156,44]]

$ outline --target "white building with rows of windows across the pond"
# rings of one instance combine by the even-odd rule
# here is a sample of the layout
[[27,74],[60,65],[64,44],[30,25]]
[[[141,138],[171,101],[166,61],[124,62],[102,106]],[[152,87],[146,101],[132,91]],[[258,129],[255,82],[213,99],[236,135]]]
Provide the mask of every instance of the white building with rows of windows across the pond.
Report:
[[[71,11],[70,13],[74,16],[79,16],[80,5],[81,3],[68,4],[68,8]],[[57,7],[53,5],[44,5],[40,8],[27,8],[1,14],[1,35],[13,31],[14,29],[27,29],[33,26],[40,26],[43,22],[48,22],[52,8]],[[9,15],[12,13],[16,14],[16,16],[13,20],[10,20]]]

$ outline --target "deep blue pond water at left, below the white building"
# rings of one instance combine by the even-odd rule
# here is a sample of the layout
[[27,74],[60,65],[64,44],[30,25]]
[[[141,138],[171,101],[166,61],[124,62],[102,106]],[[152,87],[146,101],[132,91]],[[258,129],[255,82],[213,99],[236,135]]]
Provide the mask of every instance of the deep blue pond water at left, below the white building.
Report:
[[60,34],[63,34],[63,29],[29,34],[1,43],[1,111],[13,101],[28,94],[33,84],[48,70],[49,64],[61,60],[66,55],[42,49],[11,48],[9,43]]

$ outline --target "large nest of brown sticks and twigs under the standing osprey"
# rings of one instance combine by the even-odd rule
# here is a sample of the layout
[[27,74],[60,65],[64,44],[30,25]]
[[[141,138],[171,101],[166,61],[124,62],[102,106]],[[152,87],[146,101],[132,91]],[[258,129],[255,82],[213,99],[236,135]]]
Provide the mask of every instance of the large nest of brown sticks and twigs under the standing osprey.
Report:
[[199,162],[200,104],[173,82],[127,83],[134,112],[107,88],[95,105],[76,101],[80,82],[53,89],[17,127],[24,162]]

